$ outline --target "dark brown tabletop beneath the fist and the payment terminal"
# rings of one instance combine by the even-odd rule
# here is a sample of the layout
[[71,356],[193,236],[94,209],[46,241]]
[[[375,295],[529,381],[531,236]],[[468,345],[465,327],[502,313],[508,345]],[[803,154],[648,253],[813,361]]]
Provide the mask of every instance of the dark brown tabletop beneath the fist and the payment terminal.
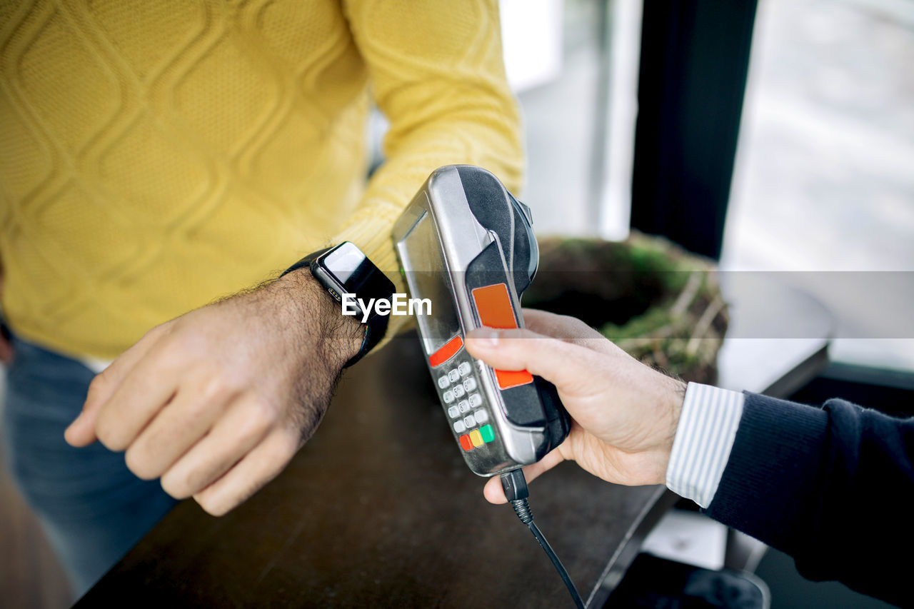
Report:
[[[418,342],[400,337],[345,374],[282,475],[222,518],[181,503],[77,606],[573,606],[536,540],[511,508],[484,500],[483,485],[463,464]],[[570,464],[530,490],[585,599],[611,561],[618,572],[633,559],[670,495]]]

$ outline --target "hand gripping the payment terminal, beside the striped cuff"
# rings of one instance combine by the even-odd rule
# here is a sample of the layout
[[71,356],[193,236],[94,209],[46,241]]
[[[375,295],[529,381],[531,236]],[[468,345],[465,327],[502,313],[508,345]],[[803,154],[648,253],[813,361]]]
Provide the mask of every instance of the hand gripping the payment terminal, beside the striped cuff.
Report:
[[[685,383],[648,368],[573,317],[525,309],[524,320],[524,330],[471,332],[466,347],[495,369],[526,369],[554,383],[574,419],[564,443],[524,468],[526,479],[569,459],[616,484],[664,484]],[[497,476],[484,495],[505,503]]]

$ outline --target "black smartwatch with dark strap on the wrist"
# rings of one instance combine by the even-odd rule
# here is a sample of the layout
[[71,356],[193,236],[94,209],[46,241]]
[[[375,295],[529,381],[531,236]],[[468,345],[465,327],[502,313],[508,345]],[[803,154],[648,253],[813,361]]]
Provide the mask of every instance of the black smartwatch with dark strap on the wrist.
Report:
[[[355,296],[356,302],[353,305],[355,305],[359,320],[363,319],[366,313],[359,305],[359,299],[366,303],[370,299],[390,300],[396,290],[394,283],[388,279],[387,275],[381,272],[374,262],[368,260],[368,257],[350,241],[343,241],[335,247],[314,251],[292,264],[282,272],[282,275],[305,266],[311,269],[314,279],[324,286],[324,289],[334,297],[336,302],[342,303],[344,294]],[[365,354],[381,341],[388,329],[388,315],[378,315],[374,311],[367,313],[362,347],[358,349],[356,355],[349,358],[343,368],[348,368],[359,359],[364,358]],[[342,311],[340,314],[342,315]]]

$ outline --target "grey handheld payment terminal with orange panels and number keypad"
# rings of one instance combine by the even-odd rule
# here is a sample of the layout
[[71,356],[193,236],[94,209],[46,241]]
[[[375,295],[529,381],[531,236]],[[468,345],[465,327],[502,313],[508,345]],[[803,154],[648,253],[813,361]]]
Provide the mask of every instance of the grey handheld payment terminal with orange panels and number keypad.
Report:
[[[494,370],[463,347],[480,326],[524,326],[520,298],[537,271],[530,209],[476,166],[435,170],[394,227],[426,362],[455,441],[478,475],[535,463],[569,433],[555,387]],[[424,313],[420,309],[420,313]]]

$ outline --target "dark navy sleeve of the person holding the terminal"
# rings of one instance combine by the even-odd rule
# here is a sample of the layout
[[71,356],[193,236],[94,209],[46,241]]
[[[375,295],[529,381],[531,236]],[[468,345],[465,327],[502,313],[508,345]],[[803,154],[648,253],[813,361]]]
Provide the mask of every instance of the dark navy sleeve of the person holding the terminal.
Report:
[[914,418],[745,395],[707,515],[791,554],[809,579],[914,604]]

